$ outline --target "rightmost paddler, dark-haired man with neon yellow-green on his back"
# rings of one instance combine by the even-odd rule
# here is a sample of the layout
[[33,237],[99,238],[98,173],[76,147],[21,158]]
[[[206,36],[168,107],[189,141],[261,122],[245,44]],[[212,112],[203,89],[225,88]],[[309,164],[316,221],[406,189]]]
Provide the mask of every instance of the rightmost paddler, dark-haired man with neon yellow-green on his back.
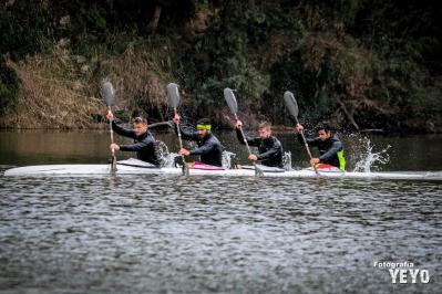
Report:
[[[302,125],[297,124],[295,130],[298,133],[298,141],[305,145],[300,132],[304,129]],[[340,139],[330,132],[327,124],[320,124],[316,127],[318,137],[313,139],[306,139],[309,146],[316,146],[319,149],[319,157],[311,158],[310,165],[327,164],[346,170],[346,158],[343,157],[343,147]]]

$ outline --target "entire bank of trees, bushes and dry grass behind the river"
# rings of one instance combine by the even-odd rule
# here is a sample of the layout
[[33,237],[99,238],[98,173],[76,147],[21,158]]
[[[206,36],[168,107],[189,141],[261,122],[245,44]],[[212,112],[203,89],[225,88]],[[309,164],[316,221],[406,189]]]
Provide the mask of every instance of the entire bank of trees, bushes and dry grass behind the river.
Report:
[[0,125],[100,126],[100,83],[120,115],[183,113],[228,126],[223,88],[241,117],[289,125],[442,132],[442,10],[399,0],[9,0],[0,3]]

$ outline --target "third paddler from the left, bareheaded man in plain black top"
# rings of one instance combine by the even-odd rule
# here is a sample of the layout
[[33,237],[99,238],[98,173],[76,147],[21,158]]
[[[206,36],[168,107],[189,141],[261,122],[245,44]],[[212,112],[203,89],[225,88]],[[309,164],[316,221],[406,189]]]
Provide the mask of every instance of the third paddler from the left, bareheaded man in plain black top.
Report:
[[[243,123],[238,119],[236,120],[235,125],[238,140],[240,144],[245,145],[244,137],[240,132]],[[259,137],[246,138],[247,144],[249,146],[258,147],[259,151],[258,155],[250,154],[248,159],[251,161],[259,160],[264,166],[282,168],[282,145],[275,136],[271,136],[271,125],[267,122],[259,124],[258,134]]]

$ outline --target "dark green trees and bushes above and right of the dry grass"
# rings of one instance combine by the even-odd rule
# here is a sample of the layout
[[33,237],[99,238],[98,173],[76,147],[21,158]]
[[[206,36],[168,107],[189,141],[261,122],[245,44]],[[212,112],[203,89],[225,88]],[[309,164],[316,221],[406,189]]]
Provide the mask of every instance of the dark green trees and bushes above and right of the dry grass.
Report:
[[[175,76],[189,116],[225,122],[223,90],[230,87],[250,119],[287,124],[281,97],[290,90],[305,122],[348,124],[341,101],[361,127],[398,128],[441,113],[442,24],[433,2],[16,0],[0,6],[0,54],[18,61],[60,49],[63,39],[63,52],[96,61],[99,76],[101,62],[147,40],[146,55],[167,52],[153,72]],[[192,31],[199,13],[207,23]],[[17,97],[11,76],[2,73],[2,113]]]

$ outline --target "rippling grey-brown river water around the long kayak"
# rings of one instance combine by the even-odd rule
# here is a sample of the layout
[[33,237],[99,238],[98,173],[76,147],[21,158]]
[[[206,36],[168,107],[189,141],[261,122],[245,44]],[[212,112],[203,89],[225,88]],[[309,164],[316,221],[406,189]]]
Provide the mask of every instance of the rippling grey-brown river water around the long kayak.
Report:
[[[173,136],[157,137],[176,151]],[[219,137],[245,162],[233,134]],[[292,137],[279,137],[292,166],[306,166]],[[389,161],[373,162],[373,170],[442,170],[442,136],[342,137],[349,169],[380,153]],[[2,132],[0,166],[105,162],[107,144],[105,132]],[[403,180],[0,176],[0,292],[440,293],[441,188]],[[415,283],[408,273],[408,283],[398,274],[393,284],[391,264],[374,266],[382,262],[419,270]]]

